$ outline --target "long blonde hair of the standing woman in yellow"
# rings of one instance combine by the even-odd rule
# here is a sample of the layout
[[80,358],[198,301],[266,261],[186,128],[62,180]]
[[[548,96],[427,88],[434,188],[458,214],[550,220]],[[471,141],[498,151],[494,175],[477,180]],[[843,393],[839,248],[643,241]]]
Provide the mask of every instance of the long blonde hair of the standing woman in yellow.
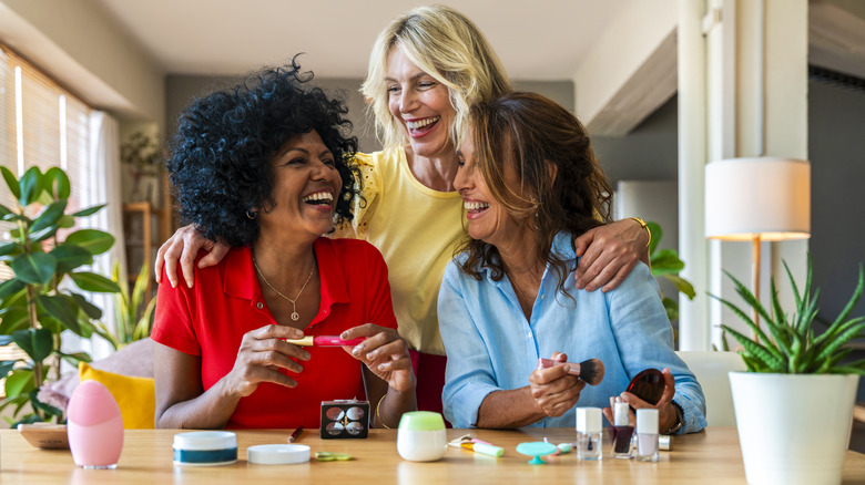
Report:
[[419,7],[394,19],[378,34],[360,92],[376,118],[385,148],[408,138],[388,109],[387,58],[397,48],[418,68],[447,86],[456,116],[450,125],[454,146],[468,126],[469,110],[512,91],[499,58],[475,23],[444,6]]

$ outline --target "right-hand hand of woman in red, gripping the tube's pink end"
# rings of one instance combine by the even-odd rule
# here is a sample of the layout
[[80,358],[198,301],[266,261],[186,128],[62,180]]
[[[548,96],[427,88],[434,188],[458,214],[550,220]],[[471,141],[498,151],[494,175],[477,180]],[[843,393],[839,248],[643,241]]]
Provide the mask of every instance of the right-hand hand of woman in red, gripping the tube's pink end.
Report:
[[408,345],[394,329],[366,323],[344,331],[339,338],[352,340],[366,337],[355,347],[344,347],[395,391],[414,391],[417,383],[411,370]]

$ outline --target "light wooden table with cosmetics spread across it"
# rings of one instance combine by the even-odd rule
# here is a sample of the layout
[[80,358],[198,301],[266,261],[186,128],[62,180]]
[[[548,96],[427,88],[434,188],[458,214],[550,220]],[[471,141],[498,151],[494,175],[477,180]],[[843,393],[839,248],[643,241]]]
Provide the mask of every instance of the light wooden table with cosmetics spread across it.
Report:
[[[354,455],[349,462],[316,462],[298,465],[255,465],[246,463],[251,445],[285,443],[289,431],[237,432],[238,462],[213,467],[184,467],[172,464],[172,442],[176,430],[128,430],[123,454],[113,471],[78,468],[69,451],[44,451],[30,446],[14,430],[0,431],[0,483],[6,484],[244,484],[262,483],[622,483],[622,484],[743,484],[745,472],[733,427],[674,436],[673,450],[661,452],[658,463],[633,460],[580,462],[576,454],[547,457],[545,465],[529,465],[528,456],[516,451],[521,442],[571,442],[570,429],[487,431],[448,430],[448,440],[470,432],[474,436],[505,448],[492,458],[467,450],[448,448],[444,460],[430,463],[406,462],[396,450],[396,430],[372,430],[367,440],[320,440],[318,430],[304,432],[298,443],[312,452]],[[606,443],[606,444],[609,444]],[[844,483],[865,483],[865,455],[847,452]]]

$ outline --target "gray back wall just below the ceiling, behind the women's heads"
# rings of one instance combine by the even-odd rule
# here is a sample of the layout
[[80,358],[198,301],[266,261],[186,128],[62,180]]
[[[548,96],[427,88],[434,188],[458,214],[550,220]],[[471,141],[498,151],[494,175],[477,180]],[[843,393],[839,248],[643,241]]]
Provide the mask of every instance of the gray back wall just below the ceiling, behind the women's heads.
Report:
[[[167,138],[174,136],[177,130],[177,116],[195,97],[212,91],[233,86],[243,81],[242,78],[216,78],[201,75],[170,75],[165,81],[165,126]],[[314,83],[332,95],[343,97],[348,104],[348,118],[354,123],[354,134],[357,136],[360,152],[369,153],[380,148],[376,140],[375,124],[366,111],[364,99],[359,93],[359,79],[318,79]],[[533,91],[548,96],[559,104],[573,110],[573,83],[570,81],[517,81],[519,90]]]

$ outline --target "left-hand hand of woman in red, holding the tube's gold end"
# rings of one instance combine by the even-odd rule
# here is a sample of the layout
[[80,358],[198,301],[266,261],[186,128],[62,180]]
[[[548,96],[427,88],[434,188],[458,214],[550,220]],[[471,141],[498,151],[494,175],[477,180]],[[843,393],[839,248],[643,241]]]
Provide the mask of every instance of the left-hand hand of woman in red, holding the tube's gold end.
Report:
[[298,329],[275,324],[246,332],[234,368],[223,378],[227,392],[244,398],[255,392],[262,382],[286,388],[297,385],[294,379],[279,372],[279,369],[294,373],[303,371],[303,367],[293,359],[306,361],[309,360],[309,353],[285,341],[303,337],[304,332]]

